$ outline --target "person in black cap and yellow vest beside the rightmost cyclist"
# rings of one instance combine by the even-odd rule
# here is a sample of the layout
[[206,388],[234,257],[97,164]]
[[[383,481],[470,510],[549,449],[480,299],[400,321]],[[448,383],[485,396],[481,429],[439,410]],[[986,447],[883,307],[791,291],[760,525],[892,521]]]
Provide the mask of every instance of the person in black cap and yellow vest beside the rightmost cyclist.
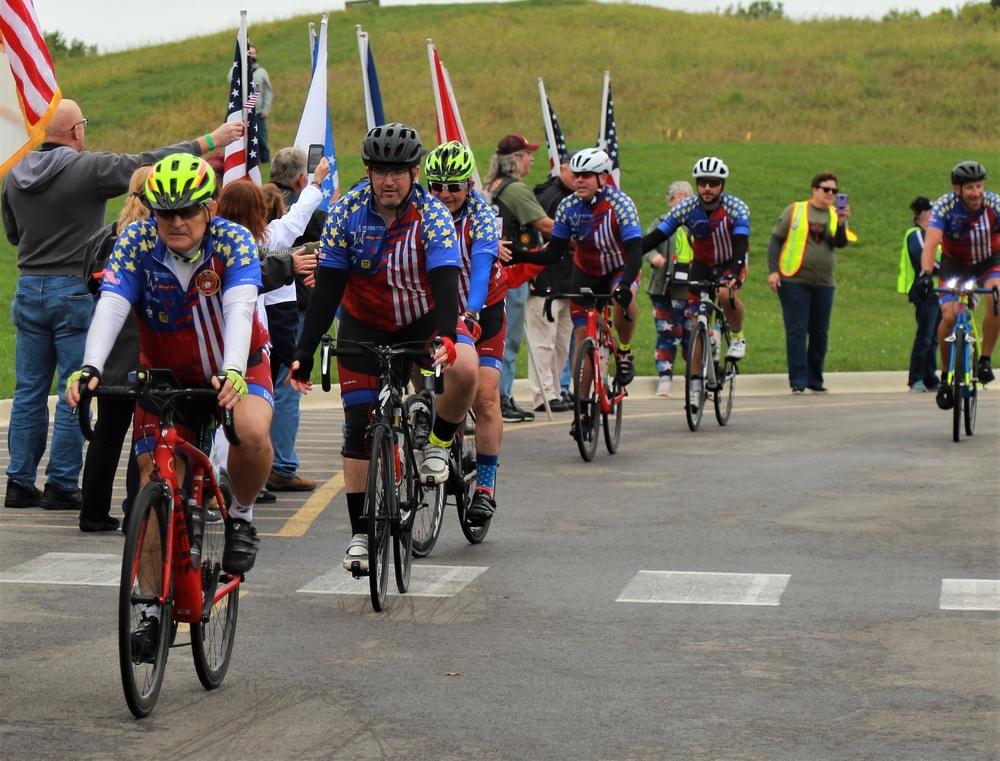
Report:
[[[916,310],[917,334],[910,352],[910,391],[937,391],[937,327],[941,322],[941,307],[936,293],[921,294],[916,286],[920,272],[920,256],[924,251],[924,234],[931,217],[931,199],[919,196],[910,204],[913,227],[903,235],[903,250],[899,254],[897,290],[908,295]],[[936,266],[936,264],[935,264]]]

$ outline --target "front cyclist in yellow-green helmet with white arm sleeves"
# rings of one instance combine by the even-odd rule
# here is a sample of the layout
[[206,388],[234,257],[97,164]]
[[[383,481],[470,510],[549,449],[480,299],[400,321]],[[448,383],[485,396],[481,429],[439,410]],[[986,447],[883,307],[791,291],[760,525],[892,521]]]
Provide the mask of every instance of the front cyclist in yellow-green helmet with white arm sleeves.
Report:
[[[222,565],[229,573],[246,573],[259,544],[253,503],[272,457],[273,387],[267,331],[256,311],[261,287],[256,247],[246,229],[215,216],[215,173],[196,156],[174,153],[157,163],[145,198],[153,217],[118,236],[87,334],[83,369],[71,376],[66,401],[77,405],[81,382],[97,387],[130,310],[139,320],[143,366],[171,370],[186,386],[218,389],[219,405],[233,410],[243,439],[229,455],[235,494]],[[224,383],[218,373],[225,374]],[[137,406],[135,453],[142,483],[153,470],[158,431],[158,411]]]

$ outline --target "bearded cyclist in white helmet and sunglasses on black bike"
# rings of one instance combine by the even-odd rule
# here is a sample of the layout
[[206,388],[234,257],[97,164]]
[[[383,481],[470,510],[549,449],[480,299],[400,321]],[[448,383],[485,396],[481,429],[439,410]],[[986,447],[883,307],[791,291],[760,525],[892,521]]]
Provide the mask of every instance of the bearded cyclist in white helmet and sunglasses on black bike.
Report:
[[[742,359],[747,342],[743,336],[745,310],[738,289],[746,278],[747,250],[750,244],[750,209],[734,195],[725,192],[729,167],[722,159],[705,156],[695,162],[691,176],[697,185],[697,195],[677,204],[657,225],[653,232],[642,239],[643,253],[652,251],[682,227],[686,227],[694,249],[691,262],[691,280],[712,279],[715,271],[722,272],[727,285],[718,291],[722,310],[732,327],[732,343],[726,356]],[[730,291],[735,306],[729,303]],[[689,309],[700,301],[699,293],[688,293]],[[698,347],[689,347],[697,353]],[[692,394],[694,389],[692,389]]]

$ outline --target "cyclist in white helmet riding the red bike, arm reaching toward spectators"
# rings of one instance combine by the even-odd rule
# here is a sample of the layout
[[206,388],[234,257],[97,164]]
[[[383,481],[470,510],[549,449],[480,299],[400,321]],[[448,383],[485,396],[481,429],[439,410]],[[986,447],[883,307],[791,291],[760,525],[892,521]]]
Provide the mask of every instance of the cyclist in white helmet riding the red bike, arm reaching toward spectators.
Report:
[[[594,293],[614,295],[614,326],[618,333],[618,382],[627,386],[635,377],[632,335],[639,314],[635,293],[642,270],[642,228],[632,199],[608,182],[611,158],[600,148],[577,151],[569,162],[575,192],[556,208],[552,238],[544,251],[523,258],[538,264],[559,261],[576,241],[570,290],[590,288]],[[628,320],[625,315],[628,315]],[[576,350],[586,337],[584,308],[570,301]],[[574,363],[576,360],[573,360]],[[575,366],[575,365],[574,365]],[[586,380],[586,379],[585,379]],[[589,380],[581,391],[589,396]],[[576,421],[570,435],[578,435]]]

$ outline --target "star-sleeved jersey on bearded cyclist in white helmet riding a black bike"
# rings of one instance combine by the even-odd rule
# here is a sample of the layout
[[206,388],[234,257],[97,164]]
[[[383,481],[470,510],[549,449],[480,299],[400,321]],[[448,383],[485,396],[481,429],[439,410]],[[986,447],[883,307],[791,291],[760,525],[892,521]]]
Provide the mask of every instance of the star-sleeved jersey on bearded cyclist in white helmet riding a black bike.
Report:
[[718,267],[733,258],[733,236],[750,236],[750,209],[736,196],[722,194],[719,206],[711,214],[701,205],[701,198],[685,198],[667,213],[657,228],[668,238],[686,227],[696,261]]

